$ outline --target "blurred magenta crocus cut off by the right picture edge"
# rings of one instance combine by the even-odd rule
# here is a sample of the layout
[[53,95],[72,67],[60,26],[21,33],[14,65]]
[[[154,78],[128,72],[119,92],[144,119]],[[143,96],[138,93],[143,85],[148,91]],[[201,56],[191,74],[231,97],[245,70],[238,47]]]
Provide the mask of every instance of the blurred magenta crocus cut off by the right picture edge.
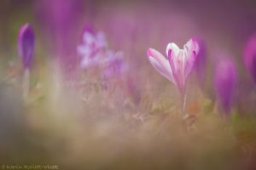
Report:
[[256,34],[248,40],[244,49],[243,60],[253,82],[256,83]]

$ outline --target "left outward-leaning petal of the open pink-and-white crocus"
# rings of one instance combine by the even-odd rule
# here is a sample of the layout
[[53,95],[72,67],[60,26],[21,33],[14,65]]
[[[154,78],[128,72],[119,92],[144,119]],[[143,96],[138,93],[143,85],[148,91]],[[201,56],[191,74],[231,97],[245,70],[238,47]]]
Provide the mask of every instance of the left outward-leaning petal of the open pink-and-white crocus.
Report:
[[172,70],[168,60],[154,48],[148,48],[147,55],[151,65],[153,65],[163,77],[166,77],[168,80],[176,84],[172,76]]

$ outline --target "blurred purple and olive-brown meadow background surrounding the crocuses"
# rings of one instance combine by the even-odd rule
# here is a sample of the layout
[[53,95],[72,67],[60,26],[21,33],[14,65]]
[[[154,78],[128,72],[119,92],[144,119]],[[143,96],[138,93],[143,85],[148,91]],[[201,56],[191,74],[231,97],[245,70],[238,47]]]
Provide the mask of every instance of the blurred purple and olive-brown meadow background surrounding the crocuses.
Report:
[[[0,165],[59,169],[255,169],[256,93],[243,61],[256,32],[256,2],[187,0],[2,0],[0,2]],[[22,98],[20,26],[35,34],[30,92]],[[84,30],[103,32],[128,65],[121,77],[85,71]],[[180,97],[147,59],[194,37],[204,54]],[[223,119],[216,65],[232,59],[237,88]]]

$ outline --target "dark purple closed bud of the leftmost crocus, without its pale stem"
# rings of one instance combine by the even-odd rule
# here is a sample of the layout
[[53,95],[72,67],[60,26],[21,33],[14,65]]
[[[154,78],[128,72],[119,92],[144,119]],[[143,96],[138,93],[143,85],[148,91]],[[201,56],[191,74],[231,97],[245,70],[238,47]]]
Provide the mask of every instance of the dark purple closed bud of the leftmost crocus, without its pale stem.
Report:
[[29,24],[21,26],[18,37],[18,51],[25,69],[31,66],[34,55],[34,41],[35,37],[32,27]]

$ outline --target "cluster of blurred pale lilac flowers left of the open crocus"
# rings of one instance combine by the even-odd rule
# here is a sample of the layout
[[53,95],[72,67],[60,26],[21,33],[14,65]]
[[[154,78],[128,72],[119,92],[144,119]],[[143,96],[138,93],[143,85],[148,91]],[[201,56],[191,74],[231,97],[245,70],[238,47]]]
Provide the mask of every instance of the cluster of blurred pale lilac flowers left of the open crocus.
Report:
[[87,70],[91,67],[102,67],[104,78],[119,77],[127,67],[123,53],[108,49],[105,35],[90,28],[84,30],[82,43],[77,51],[81,57],[81,68]]

